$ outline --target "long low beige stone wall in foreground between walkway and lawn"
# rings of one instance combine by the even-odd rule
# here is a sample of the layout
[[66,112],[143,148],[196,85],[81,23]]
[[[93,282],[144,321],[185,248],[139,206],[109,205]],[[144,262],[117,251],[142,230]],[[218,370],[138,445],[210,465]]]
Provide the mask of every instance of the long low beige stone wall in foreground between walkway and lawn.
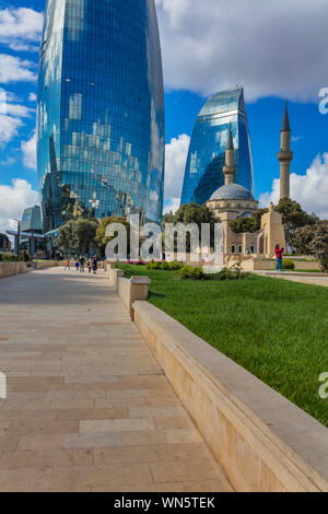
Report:
[[323,424],[153,305],[133,307],[141,335],[237,491],[328,491]]

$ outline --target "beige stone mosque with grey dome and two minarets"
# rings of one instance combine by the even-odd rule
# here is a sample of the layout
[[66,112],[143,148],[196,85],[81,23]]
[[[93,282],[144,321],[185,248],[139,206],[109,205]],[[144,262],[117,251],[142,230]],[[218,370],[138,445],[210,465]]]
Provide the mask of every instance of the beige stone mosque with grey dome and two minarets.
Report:
[[[280,244],[284,248],[285,236],[281,214],[273,209],[271,203],[269,212],[261,218],[261,229],[255,233],[236,234],[230,223],[238,218],[250,217],[258,210],[258,201],[251,191],[234,184],[236,173],[234,142],[230,127],[223,173],[225,185],[213,192],[207,207],[220,219],[223,225],[223,247],[221,252],[225,256],[239,258],[246,257],[273,257],[274,246]],[[290,167],[293,160],[291,152],[291,127],[289,121],[288,105],[285,104],[282,127],[281,149],[278,153],[280,162],[280,198],[290,198]]]

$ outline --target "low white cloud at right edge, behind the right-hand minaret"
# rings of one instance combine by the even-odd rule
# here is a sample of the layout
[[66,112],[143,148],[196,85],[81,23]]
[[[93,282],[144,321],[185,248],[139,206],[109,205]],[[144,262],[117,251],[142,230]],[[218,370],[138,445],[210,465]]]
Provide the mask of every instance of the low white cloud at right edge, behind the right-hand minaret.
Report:
[[[270,201],[277,205],[279,196],[280,180],[276,178],[271,192],[260,196],[260,206],[267,207]],[[328,153],[317,155],[306,175],[291,174],[291,198],[298,201],[305,211],[328,219]]]

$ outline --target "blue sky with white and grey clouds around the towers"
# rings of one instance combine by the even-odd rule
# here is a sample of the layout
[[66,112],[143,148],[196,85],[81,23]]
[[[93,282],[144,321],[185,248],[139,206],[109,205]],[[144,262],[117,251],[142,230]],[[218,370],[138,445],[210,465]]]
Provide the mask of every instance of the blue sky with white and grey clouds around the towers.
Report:
[[[256,198],[261,206],[279,199],[277,153],[286,98],[292,198],[328,219],[327,0],[155,2],[165,82],[165,211],[179,206],[199,110],[211,94],[239,84]],[[25,207],[39,202],[36,74],[45,3],[0,0],[0,232],[13,227],[12,219]]]

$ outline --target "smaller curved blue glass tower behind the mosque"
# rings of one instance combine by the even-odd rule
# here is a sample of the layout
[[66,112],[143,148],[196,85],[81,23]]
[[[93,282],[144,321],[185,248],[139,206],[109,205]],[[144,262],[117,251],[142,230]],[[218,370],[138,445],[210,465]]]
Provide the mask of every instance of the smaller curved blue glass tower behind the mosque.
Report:
[[235,148],[234,182],[253,192],[253,161],[244,90],[236,87],[212,96],[197,118],[187,159],[181,205],[204,203],[224,185],[223,166],[229,127]]

